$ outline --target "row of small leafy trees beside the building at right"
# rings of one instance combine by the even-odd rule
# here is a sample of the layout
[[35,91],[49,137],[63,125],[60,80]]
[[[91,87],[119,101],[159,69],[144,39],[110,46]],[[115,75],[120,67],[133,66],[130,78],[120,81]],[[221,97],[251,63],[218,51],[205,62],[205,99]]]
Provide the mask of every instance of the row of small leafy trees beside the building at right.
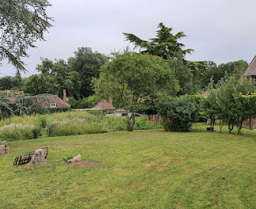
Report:
[[222,79],[204,100],[205,112],[212,120],[213,126],[217,119],[220,120],[220,127],[223,126],[224,120],[227,120],[229,132],[231,133],[237,123],[240,134],[243,120],[256,113],[256,97],[246,97],[255,92],[255,82],[237,80],[234,77]]

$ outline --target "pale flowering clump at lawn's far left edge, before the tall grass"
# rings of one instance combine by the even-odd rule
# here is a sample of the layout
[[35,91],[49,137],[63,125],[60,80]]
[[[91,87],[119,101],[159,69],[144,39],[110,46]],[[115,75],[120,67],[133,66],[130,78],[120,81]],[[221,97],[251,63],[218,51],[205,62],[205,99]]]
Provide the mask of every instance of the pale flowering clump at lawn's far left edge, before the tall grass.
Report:
[[34,139],[34,126],[22,124],[10,124],[0,127],[0,139],[17,141],[20,139]]

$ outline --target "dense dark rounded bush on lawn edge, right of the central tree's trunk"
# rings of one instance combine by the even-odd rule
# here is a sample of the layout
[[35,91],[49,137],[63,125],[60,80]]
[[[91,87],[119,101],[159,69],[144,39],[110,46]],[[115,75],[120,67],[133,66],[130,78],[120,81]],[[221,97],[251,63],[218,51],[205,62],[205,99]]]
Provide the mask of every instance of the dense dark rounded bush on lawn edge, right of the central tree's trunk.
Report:
[[159,114],[166,131],[189,131],[199,114],[197,97],[184,95],[159,104]]

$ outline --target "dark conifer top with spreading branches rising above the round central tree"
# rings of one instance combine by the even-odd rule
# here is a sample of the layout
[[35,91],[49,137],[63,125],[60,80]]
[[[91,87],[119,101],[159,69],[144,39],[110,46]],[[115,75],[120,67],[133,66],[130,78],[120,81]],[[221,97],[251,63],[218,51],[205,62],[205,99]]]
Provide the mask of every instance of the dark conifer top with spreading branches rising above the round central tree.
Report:
[[139,47],[143,54],[157,55],[162,59],[184,59],[185,55],[191,53],[193,49],[183,50],[184,44],[179,43],[178,40],[185,37],[184,32],[178,32],[174,35],[172,30],[173,28],[167,28],[161,22],[156,37],[151,40],[142,40],[132,33],[126,32],[124,32],[124,36],[135,47]]

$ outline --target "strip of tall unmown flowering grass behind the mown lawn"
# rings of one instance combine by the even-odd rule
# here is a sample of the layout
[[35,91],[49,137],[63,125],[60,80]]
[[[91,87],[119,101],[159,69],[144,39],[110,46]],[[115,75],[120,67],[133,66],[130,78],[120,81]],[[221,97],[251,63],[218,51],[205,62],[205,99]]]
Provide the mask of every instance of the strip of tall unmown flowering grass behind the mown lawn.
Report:
[[[126,117],[103,116],[101,114],[90,114],[89,112],[55,112],[49,115],[20,116],[1,120],[0,127],[6,125],[18,124],[20,131],[25,129],[25,125],[31,125],[34,128],[42,129],[44,135],[62,136],[62,135],[84,135],[94,133],[105,133],[109,131],[125,131]],[[23,125],[23,126],[21,126]],[[12,127],[13,125],[11,125]],[[135,130],[159,129],[159,124],[152,124],[147,120],[147,116],[136,118]],[[7,130],[7,129],[5,129]],[[16,129],[10,129],[10,134],[0,133],[1,139],[13,140],[13,133]],[[25,131],[25,130],[24,130]],[[25,131],[26,132],[26,131]],[[29,132],[30,133],[30,132]],[[20,136],[22,134],[19,134]],[[29,136],[19,137],[19,139],[33,139]]]

